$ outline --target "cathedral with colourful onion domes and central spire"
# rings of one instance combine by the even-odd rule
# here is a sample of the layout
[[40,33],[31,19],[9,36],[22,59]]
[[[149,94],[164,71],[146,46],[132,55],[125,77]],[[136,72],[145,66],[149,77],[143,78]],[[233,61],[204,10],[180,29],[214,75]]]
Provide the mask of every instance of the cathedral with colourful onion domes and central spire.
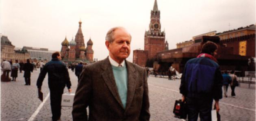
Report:
[[79,28],[76,33],[75,40],[74,38],[72,38],[72,40],[69,42],[67,40],[67,37],[65,37],[65,40],[61,43],[61,58],[64,62],[93,62],[93,42],[90,38],[87,42],[87,46],[85,46],[85,40],[82,34],[81,24],[82,22],[79,21]]

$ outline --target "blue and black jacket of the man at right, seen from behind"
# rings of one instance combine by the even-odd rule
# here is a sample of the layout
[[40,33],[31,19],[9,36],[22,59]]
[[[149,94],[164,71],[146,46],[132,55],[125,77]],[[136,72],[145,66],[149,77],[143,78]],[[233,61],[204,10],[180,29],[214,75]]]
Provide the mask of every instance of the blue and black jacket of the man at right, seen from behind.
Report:
[[223,79],[219,65],[210,58],[192,58],[184,68],[180,93],[190,98],[222,98]]

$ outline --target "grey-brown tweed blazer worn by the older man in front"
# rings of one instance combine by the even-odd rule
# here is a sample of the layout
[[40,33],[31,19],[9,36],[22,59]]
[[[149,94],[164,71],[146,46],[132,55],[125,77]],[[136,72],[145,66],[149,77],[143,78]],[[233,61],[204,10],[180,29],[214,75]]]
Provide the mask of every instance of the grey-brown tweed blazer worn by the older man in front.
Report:
[[150,104],[146,71],[128,61],[126,67],[128,91],[124,108],[108,58],[85,66],[74,98],[73,121],[149,121]]

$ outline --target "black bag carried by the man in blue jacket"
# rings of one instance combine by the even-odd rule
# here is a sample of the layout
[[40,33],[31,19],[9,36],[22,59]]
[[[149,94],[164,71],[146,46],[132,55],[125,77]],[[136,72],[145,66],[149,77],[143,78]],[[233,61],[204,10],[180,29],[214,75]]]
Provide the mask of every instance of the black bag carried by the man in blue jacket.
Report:
[[176,100],[174,104],[174,117],[179,119],[187,119],[186,102]]

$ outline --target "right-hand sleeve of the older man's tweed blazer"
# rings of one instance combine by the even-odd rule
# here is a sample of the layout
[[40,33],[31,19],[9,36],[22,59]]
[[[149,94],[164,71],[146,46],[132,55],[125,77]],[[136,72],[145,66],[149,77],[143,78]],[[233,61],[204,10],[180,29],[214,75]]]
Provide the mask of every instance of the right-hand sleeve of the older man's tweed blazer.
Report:
[[141,106],[141,114],[139,116],[140,121],[149,121],[150,120],[150,102],[149,102],[149,97],[148,97],[148,76],[146,73],[146,70],[144,69],[143,71],[143,102]]

